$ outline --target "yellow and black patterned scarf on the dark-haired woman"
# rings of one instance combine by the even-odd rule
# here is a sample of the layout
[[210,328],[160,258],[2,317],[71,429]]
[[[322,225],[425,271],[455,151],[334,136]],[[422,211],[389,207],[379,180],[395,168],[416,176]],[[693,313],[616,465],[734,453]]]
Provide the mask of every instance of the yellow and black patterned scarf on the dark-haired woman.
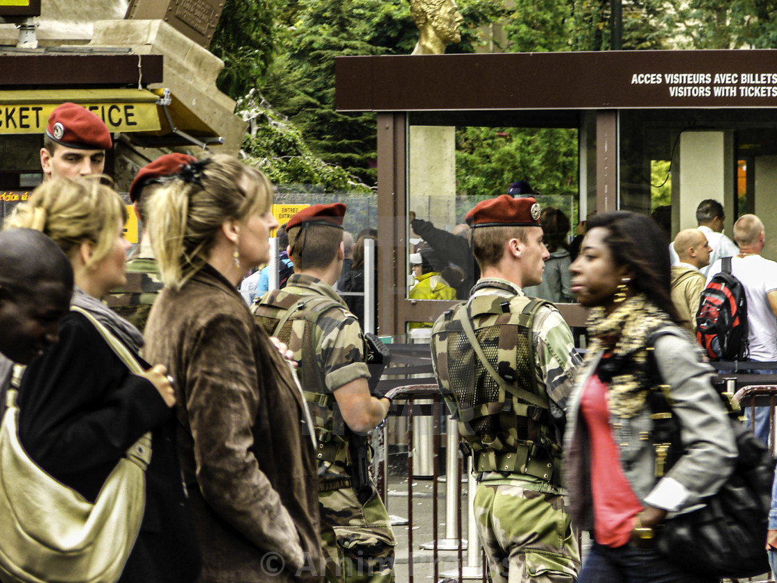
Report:
[[586,362],[601,350],[608,353],[608,358],[599,362],[598,375],[608,383],[611,414],[635,417],[643,410],[653,385],[647,340],[668,324],[669,316],[643,294],[627,298],[609,315],[602,307],[591,310],[587,323],[591,344]]

